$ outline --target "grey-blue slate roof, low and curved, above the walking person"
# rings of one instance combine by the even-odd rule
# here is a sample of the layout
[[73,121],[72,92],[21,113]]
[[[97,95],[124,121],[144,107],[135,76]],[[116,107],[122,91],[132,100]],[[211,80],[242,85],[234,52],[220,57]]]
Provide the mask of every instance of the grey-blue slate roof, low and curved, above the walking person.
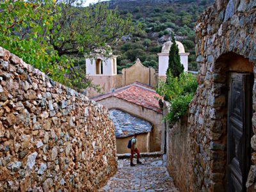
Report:
[[118,109],[109,110],[110,116],[115,124],[116,138],[125,138],[135,133],[150,132],[152,125],[141,118]]

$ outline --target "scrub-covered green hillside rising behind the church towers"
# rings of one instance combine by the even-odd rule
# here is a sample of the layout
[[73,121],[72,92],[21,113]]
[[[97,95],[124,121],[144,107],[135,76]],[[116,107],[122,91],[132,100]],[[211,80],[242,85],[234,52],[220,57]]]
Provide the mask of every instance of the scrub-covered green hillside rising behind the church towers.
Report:
[[147,67],[158,67],[157,53],[164,42],[170,41],[171,33],[182,42],[189,55],[189,70],[197,70],[195,56],[195,32],[193,28],[200,13],[213,3],[213,0],[148,0],[109,1],[109,8],[118,8],[121,15],[132,14],[134,22],[141,24],[141,31],[123,36],[113,47],[118,57],[118,71],[130,67],[140,58]]

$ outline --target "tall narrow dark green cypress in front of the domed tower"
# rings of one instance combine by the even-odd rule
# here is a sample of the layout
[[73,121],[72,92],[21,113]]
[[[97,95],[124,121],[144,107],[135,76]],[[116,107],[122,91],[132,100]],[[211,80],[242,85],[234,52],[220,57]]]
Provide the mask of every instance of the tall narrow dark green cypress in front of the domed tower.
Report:
[[169,53],[169,65],[166,71],[166,76],[169,70],[171,71],[174,77],[179,77],[179,75],[184,71],[184,67],[180,63],[179,48],[175,42],[173,33],[172,33],[172,47]]

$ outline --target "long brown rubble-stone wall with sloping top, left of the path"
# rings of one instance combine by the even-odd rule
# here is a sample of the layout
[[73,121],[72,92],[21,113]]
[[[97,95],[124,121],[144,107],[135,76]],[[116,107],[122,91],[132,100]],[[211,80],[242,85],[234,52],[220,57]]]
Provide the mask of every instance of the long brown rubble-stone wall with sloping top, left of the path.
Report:
[[0,191],[96,191],[115,172],[108,109],[0,47]]

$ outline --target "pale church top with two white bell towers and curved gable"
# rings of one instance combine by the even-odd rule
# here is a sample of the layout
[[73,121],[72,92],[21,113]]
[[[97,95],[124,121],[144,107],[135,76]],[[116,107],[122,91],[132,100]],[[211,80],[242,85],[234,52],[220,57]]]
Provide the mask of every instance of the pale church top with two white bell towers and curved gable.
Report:
[[[177,42],[179,48],[180,63],[184,66],[184,71],[188,71],[189,52],[185,52],[182,43]],[[101,92],[97,93],[92,88],[86,90],[86,96],[95,97],[102,93],[115,91],[116,88],[127,86],[135,82],[148,84],[149,86],[157,86],[159,79],[166,78],[168,68],[169,52],[172,42],[163,44],[162,51],[158,53],[159,63],[158,72],[152,67],[145,67],[139,59],[129,68],[123,68],[122,74],[117,74],[116,58],[110,52],[108,55],[94,54],[92,58],[86,58],[86,74],[92,79],[93,84],[99,84]]]

